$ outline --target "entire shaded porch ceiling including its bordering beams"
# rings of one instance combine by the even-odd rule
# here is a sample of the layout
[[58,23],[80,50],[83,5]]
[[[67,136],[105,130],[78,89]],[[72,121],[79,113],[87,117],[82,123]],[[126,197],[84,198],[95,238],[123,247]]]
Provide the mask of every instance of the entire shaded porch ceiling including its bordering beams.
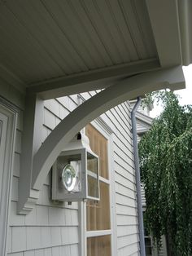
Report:
[[0,77],[48,99],[182,64],[185,11],[176,0],[3,1]]

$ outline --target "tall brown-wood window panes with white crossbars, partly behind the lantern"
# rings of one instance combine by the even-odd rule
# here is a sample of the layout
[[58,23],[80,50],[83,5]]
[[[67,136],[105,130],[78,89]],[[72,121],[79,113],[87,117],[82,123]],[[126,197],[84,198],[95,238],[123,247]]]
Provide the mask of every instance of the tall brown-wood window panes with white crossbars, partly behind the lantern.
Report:
[[[100,201],[88,200],[86,205],[87,256],[111,256],[110,181],[107,139],[94,128],[86,126],[90,148],[99,157]],[[98,236],[98,232],[100,235]]]

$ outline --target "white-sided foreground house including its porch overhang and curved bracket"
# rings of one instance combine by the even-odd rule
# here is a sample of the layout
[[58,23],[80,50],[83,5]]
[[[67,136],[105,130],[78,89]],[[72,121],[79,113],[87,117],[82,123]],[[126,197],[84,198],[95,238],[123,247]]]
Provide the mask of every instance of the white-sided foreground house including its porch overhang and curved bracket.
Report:
[[[86,256],[91,246],[144,255],[128,100],[185,87],[190,8],[177,0],[0,2],[2,256]],[[49,177],[90,122],[108,148],[108,178],[99,179],[110,191],[110,228],[87,232],[85,203],[50,200]]]

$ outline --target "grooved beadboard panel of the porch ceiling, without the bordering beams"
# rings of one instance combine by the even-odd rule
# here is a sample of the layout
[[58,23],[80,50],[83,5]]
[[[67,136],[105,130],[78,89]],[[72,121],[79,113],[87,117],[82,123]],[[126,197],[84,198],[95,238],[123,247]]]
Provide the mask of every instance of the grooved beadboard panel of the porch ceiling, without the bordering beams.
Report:
[[0,33],[2,66],[27,86],[157,57],[141,0],[7,0]]

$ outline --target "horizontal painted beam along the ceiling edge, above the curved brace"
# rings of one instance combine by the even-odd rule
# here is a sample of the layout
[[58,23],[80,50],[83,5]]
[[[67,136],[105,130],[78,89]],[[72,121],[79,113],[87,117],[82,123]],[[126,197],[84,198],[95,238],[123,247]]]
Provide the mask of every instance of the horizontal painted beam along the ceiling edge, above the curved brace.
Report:
[[103,89],[121,77],[143,73],[159,68],[159,60],[139,60],[129,64],[119,64],[107,68],[98,68],[76,75],[59,77],[46,82],[38,82],[28,86],[28,94],[38,93],[42,99],[53,99],[89,90]]

